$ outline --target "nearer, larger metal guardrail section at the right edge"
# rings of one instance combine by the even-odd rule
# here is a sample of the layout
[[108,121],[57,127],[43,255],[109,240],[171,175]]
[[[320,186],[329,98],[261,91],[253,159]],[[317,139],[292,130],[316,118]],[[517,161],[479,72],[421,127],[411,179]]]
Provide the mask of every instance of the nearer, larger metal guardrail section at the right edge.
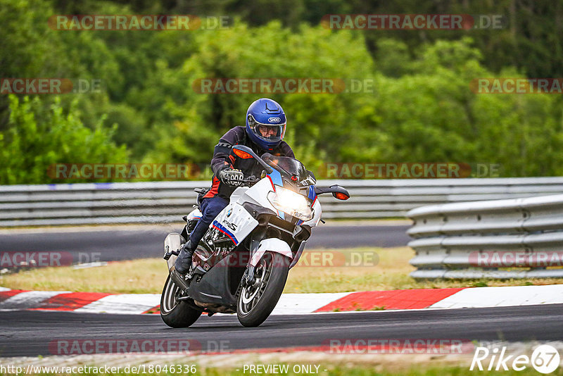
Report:
[[563,277],[563,194],[415,208],[416,279]]

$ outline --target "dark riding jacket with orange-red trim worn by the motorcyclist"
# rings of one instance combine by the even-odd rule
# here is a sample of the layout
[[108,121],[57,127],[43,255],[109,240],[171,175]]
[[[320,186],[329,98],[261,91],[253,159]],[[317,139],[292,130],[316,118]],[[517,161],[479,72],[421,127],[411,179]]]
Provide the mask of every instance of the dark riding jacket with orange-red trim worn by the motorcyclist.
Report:
[[[224,170],[225,168],[239,169],[243,172],[245,177],[250,175],[260,177],[260,173],[262,173],[263,170],[262,166],[255,161],[254,158],[234,158],[234,156],[231,155],[231,148],[233,145],[248,146],[256,154],[258,154],[258,156],[265,153],[264,150],[260,149],[260,146],[254,144],[250,137],[248,137],[245,127],[234,127],[227,133],[223,134],[223,137],[219,139],[219,143],[215,145],[213,159],[211,159],[211,170],[213,170],[214,174],[213,185],[211,186],[209,192],[203,196],[204,198],[218,195],[224,199],[229,199],[235,187],[224,184],[217,179],[217,174],[220,170]],[[273,150],[268,150],[267,152],[274,154],[275,156],[289,156],[291,158],[295,158],[293,150],[291,150],[291,147],[289,147],[285,141],[281,141]]]

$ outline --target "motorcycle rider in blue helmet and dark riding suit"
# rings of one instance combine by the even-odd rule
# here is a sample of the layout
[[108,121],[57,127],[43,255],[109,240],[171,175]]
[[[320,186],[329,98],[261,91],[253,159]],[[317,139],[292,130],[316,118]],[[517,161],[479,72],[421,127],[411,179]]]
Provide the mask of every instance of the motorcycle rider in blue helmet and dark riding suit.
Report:
[[208,230],[217,214],[229,204],[229,197],[234,189],[242,184],[243,177],[260,175],[262,172],[262,166],[254,158],[235,159],[230,154],[232,146],[237,144],[248,146],[258,155],[271,153],[276,156],[295,158],[291,147],[282,141],[285,132],[284,110],[276,101],[261,98],[248,107],[246,127],[236,126],[219,139],[211,160],[211,170],[214,174],[213,185],[201,200],[201,219],[178,255],[175,263],[177,272],[185,274],[189,271],[191,256],[203,234]]

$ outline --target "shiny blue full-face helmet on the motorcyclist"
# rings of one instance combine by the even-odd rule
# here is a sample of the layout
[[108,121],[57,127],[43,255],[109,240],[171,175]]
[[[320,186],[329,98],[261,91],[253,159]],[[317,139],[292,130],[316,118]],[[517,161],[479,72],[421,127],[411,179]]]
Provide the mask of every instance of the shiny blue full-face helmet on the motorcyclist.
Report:
[[286,133],[286,114],[277,101],[260,98],[248,107],[246,133],[264,150],[279,145]]

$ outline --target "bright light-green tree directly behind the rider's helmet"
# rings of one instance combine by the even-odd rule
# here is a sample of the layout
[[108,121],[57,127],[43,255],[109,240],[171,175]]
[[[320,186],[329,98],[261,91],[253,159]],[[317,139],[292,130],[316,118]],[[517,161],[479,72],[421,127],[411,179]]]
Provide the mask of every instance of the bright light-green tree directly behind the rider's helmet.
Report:
[[[338,78],[347,84],[363,80],[372,74],[373,62],[358,33],[307,25],[291,31],[279,22],[256,28],[238,23],[228,30],[199,33],[194,46],[182,70],[190,81],[181,110],[184,119],[151,153],[152,160],[173,157],[207,163],[217,139],[229,128],[244,125],[249,104],[262,96],[284,107],[288,141],[308,164],[337,158],[360,126],[355,117],[358,98],[370,94],[196,94],[193,87],[196,79],[210,77]],[[364,101],[362,106],[369,104]]]

